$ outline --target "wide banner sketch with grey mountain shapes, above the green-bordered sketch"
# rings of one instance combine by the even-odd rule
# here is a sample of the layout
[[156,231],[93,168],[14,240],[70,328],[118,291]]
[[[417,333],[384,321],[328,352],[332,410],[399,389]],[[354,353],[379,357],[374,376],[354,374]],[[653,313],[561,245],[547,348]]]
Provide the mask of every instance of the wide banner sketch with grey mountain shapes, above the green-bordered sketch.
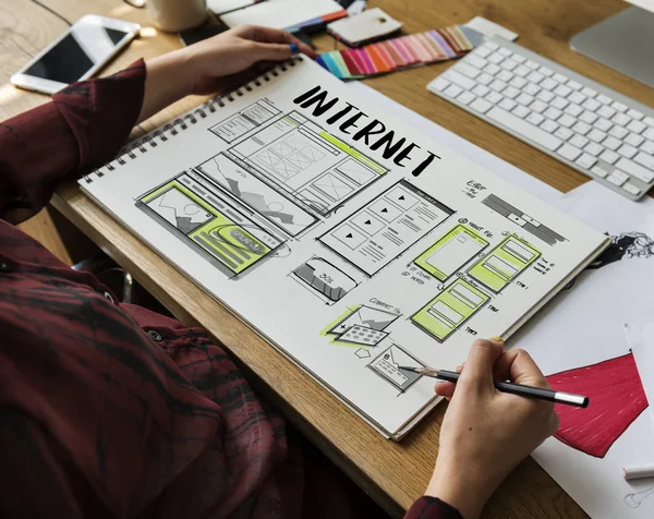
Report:
[[211,157],[196,169],[292,237],[318,221],[225,154]]

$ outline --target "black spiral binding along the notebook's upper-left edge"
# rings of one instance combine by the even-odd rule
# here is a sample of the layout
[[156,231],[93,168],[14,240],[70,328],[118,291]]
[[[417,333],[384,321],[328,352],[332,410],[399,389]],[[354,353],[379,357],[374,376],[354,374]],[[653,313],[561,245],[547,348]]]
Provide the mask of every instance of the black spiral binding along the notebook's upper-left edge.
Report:
[[[289,61],[286,61],[275,69],[262,74],[251,82],[235,88],[234,90],[223,95],[217,96],[208,101],[204,102],[197,108],[194,108],[191,111],[187,111],[183,116],[178,117],[173,121],[169,121],[162,126],[157,128],[154,132],[148,133],[147,135],[132,141],[125,147],[123,147],[116,157],[100,166],[99,168],[94,169],[93,171],[84,174],[82,178],[87,184],[93,183],[94,177],[101,178],[110,171],[116,170],[117,167],[124,166],[126,162],[125,156],[131,159],[135,159],[137,155],[146,154],[149,149],[156,148],[159,144],[169,141],[171,137],[174,137],[180,132],[187,130],[191,125],[197,123],[198,119],[205,119],[207,113],[216,112],[216,106],[219,108],[223,108],[228,102],[233,102],[233,100],[238,97],[243,96],[243,90],[252,92],[257,86],[262,86],[264,83],[269,82],[272,77],[278,77],[279,72],[286,72],[290,67],[295,67],[298,61],[302,61],[301,56],[295,56],[291,58]],[[234,97],[235,96],[235,97]],[[118,164],[114,164],[118,162]]]

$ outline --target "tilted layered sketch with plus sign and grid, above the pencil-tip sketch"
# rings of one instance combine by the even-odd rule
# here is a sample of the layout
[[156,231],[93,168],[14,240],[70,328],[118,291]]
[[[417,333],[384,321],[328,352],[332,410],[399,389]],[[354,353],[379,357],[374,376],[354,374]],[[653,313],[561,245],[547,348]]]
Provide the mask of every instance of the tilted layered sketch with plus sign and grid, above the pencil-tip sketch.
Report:
[[352,306],[331,322],[320,335],[331,337],[331,342],[337,345],[375,347],[388,336],[384,330],[399,317],[399,314],[372,306]]

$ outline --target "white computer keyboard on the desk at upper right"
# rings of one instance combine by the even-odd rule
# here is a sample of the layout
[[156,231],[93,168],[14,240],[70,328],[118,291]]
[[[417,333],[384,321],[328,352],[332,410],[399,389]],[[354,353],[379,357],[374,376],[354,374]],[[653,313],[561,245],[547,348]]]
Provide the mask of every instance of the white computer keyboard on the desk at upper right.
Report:
[[654,110],[519,45],[491,38],[427,88],[628,198],[654,183]]

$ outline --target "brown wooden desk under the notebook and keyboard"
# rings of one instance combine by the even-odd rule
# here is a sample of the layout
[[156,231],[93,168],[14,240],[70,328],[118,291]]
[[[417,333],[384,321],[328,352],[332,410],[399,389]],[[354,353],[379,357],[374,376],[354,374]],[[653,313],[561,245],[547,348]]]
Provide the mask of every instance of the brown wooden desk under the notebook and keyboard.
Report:
[[[95,13],[149,26],[146,12],[119,0],[41,0],[74,21]],[[520,44],[570,67],[623,94],[654,106],[654,92],[598,63],[574,53],[569,38],[616,13],[619,0],[375,0],[415,33],[482,15],[520,33]],[[29,109],[47,98],[14,89],[9,76],[65,29],[53,14],[29,0],[0,0],[0,120]],[[147,32],[146,32],[147,34]],[[178,48],[177,36],[152,31],[134,41],[106,71],[114,72],[138,57]],[[316,38],[332,48],[327,36]],[[493,152],[561,191],[586,180],[526,144],[427,93],[425,85],[449,64],[391,74],[367,83],[412,110]],[[150,130],[198,104],[185,99],[144,123]],[[298,370],[265,340],[173,269],[84,196],[76,184],[62,186],[52,204],[107,251],[171,312],[185,323],[199,324],[227,346],[246,366],[255,387],[272,399],[319,448],[393,515],[401,514],[423,492],[438,450],[445,406],[437,409],[401,444],[384,439],[335,397]],[[524,461],[491,499],[488,518],[582,518],[585,514],[531,459]]]

